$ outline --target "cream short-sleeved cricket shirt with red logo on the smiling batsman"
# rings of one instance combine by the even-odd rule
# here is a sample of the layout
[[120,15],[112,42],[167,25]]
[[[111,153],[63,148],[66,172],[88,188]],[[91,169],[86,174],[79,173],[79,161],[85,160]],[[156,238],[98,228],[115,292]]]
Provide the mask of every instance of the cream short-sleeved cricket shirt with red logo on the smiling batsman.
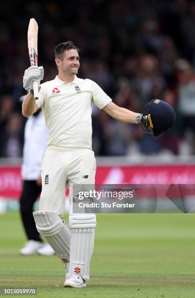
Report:
[[99,108],[112,99],[90,79],[75,76],[71,83],[58,76],[41,84],[38,107],[44,112],[50,148],[92,149],[92,102]]

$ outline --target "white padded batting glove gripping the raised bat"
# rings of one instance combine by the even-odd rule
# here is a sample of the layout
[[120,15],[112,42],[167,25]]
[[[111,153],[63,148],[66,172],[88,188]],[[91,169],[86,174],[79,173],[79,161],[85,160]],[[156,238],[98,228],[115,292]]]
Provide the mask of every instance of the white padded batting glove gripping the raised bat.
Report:
[[44,76],[44,69],[42,66],[31,66],[25,70],[23,76],[23,88],[30,92],[33,89],[33,82],[37,81],[38,85],[40,85],[40,81],[42,81]]

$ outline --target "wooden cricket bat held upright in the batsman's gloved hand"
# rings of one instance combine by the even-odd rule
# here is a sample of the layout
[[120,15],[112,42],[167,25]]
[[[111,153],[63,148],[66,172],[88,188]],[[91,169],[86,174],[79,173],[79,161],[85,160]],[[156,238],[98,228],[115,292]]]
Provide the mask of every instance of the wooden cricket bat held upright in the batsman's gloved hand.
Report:
[[[38,23],[30,19],[28,25],[28,53],[31,66],[38,66]],[[34,98],[39,99],[38,82],[33,82]]]

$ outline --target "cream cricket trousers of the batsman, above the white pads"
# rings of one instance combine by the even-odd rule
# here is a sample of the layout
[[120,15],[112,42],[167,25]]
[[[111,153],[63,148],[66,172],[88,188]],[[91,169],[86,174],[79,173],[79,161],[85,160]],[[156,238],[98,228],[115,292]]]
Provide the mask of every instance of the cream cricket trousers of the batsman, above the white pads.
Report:
[[41,163],[42,191],[39,211],[64,215],[65,191],[69,186],[70,214],[72,185],[95,184],[96,159],[90,149],[47,149]]

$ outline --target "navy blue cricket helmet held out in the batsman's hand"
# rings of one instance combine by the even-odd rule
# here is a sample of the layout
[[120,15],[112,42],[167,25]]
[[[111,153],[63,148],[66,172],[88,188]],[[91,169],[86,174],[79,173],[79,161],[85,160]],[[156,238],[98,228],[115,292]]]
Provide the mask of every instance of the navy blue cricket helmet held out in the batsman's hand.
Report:
[[176,113],[172,106],[160,99],[153,99],[146,104],[142,115],[142,129],[154,136],[170,130],[176,121]]

